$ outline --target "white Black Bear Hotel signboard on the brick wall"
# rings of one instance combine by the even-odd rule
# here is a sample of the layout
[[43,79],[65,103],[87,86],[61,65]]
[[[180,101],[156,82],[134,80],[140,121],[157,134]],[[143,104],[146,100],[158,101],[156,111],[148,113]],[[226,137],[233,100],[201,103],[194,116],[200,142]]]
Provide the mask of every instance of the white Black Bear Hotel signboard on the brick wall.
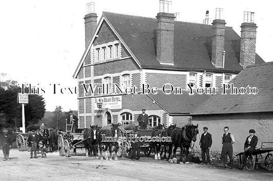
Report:
[[97,103],[102,102],[101,109],[122,109],[121,95],[107,96],[107,97],[95,97],[95,110],[99,110]]

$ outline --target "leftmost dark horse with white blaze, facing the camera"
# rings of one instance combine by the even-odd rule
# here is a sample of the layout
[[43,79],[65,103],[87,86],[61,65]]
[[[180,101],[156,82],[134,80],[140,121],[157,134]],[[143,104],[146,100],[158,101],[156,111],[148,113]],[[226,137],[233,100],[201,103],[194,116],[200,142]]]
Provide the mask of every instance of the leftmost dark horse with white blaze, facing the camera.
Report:
[[[100,127],[98,125],[90,126],[91,128],[86,130],[83,133],[83,139],[86,139],[85,141],[85,147],[86,147],[86,156],[89,156],[93,159],[93,156],[98,159],[98,132]],[[92,154],[93,153],[93,154]]]

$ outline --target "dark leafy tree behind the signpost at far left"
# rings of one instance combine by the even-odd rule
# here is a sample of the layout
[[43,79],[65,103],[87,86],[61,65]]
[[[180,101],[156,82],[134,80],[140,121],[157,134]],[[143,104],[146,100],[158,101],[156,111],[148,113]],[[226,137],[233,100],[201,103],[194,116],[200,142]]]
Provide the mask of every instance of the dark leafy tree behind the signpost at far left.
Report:
[[[22,105],[17,103],[18,92],[21,92],[21,88],[18,87],[16,81],[0,80],[0,119],[2,126],[22,126]],[[40,95],[30,94],[29,104],[25,105],[26,127],[43,118],[45,111],[44,98]]]

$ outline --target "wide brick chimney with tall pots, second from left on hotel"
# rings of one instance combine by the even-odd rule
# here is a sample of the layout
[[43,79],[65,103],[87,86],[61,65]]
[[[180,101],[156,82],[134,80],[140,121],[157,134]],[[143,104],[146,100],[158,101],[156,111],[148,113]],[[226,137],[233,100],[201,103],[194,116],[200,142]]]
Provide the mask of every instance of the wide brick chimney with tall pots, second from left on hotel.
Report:
[[175,16],[172,13],[172,1],[159,1],[156,19],[156,59],[160,64],[173,65]]

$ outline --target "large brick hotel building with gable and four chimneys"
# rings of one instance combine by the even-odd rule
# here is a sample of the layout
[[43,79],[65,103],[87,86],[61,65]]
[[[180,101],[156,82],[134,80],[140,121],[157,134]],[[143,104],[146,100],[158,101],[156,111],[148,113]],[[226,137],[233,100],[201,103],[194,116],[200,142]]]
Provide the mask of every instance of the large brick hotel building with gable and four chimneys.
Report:
[[[221,88],[246,66],[264,62],[255,51],[254,13],[244,12],[240,37],[225,26],[223,9],[216,9],[212,24],[208,12],[200,24],[178,21],[171,1],[160,0],[159,7],[156,18],[103,12],[97,22],[94,3],[88,4],[86,50],[73,75],[78,82],[79,127],[136,121],[143,108],[151,126],[181,127],[208,98],[188,95],[187,84]],[[183,94],[126,94],[113,86],[140,91],[142,84],[161,89],[166,83],[180,87]],[[86,93],[82,84],[108,85],[109,93]],[[107,100],[101,109],[99,99]]]

